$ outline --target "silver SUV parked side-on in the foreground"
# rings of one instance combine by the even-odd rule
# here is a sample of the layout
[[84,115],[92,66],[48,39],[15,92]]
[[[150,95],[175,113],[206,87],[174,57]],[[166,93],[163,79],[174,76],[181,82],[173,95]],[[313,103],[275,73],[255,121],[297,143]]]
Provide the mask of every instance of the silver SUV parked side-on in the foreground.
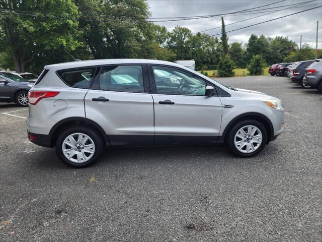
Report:
[[68,165],[104,146],[226,144],[258,154],[282,133],[281,100],[224,86],[175,63],[103,59],[46,66],[29,91],[29,140]]

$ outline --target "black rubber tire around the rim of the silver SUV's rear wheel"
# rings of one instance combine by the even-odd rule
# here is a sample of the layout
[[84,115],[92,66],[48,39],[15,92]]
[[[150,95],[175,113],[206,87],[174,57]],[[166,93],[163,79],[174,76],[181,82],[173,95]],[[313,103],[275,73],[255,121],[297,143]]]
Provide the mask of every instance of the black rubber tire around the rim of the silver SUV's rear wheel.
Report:
[[[62,144],[63,144],[64,140],[69,135],[74,134],[74,133],[82,133],[82,134],[89,136],[93,140],[94,145],[95,145],[95,151],[94,151],[93,156],[89,160],[82,162],[82,163],[76,163],[76,162],[72,162],[72,161],[68,160],[62,151]],[[77,142],[78,142],[78,140],[77,140]],[[68,128],[68,129],[62,131],[58,135],[58,138],[56,140],[56,154],[59,157],[59,159],[62,162],[64,162],[66,165],[76,167],[76,168],[87,167],[87,166],[94,164],[100,158],[101,154],[103,153],[103,148],[104,148],[104,141],[103,141],[102,137],[96,131],[86,128],[84,126],[76,126],[76,127]],[[75,156],[73,156],[73,157],[75,157]],[[76,155],[76,157],[77,157],[77,155]]]

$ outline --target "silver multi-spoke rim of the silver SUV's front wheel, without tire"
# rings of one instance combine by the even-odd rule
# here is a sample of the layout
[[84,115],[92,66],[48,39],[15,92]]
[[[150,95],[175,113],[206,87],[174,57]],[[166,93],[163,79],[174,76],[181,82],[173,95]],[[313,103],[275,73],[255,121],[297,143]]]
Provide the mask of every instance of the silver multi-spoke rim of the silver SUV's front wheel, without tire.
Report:
[[247,125],[240,128],[234,137],[234,144],[241,153],[253,153],[262,144],[263,135],[259,128]]

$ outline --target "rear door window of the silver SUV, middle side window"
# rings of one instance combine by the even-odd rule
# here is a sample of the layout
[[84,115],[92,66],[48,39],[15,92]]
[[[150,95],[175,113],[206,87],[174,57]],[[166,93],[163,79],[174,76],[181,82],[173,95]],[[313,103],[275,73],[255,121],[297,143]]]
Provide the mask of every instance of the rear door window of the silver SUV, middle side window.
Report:
[[144,92],[141,66],[104,67],[100,75],[100,89],[117,92]]

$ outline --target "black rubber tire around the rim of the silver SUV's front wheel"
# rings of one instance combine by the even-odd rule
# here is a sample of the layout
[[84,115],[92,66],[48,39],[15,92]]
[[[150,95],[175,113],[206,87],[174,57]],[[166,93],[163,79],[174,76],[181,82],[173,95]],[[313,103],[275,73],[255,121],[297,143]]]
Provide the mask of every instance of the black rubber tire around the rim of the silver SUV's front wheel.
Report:
[[[234,144],[234,137],[236,135],[236,133],[238,132],[239,129],[243,128],[244,126],[248,126],[248,125],[252,125],[257,127],[261,133],[262,133],[262,143],[261,145],[252,153],[243,153],[240,152]],[[258,122],[257,120],[252,120],[252,119],[247,119],[247,120],[243,120],[241,122],[239,122],[238,124],[234,125],[234,127],[232,127],[232,129],[230,130],[228,137],[227,137],[227,145],[229,150],[236,156],[239,157],[252,157],[257,155],[258,153],[260,153],[263,148],[265,147],[266,143],[267,143],[267,131],[266,128],[264,127],[264,125],[262,125],[260,122]]]

